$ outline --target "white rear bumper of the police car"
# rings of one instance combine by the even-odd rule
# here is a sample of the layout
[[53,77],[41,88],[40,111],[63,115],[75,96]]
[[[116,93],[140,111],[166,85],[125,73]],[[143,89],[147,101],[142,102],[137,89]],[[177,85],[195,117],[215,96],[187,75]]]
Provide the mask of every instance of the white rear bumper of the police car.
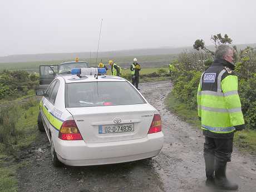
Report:
[[90,144],[58,139],[55,150],[58,159],[66,165],[103,165],[154,157],[161,151],[163,143],[163,132],[158,132],[143,139]]

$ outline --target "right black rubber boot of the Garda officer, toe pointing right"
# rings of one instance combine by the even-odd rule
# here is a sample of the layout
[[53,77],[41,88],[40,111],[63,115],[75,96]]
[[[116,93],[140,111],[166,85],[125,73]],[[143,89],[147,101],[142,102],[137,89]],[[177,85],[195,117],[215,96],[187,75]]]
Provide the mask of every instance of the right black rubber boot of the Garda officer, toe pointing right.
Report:
[[227,162],[215,160],[215,179],[214,183],[218,189],[237,190],[238,185],[230,183],[226,176]]

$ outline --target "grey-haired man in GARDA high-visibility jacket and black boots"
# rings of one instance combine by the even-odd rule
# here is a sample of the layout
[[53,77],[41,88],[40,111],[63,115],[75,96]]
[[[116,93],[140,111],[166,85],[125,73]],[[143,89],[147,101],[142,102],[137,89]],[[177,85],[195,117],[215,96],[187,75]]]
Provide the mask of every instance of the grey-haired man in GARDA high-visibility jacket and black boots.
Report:
[[206,185],[226,190],[238,189],[227,179],[226,169],[234,132],[245,127],[233,60],[231,47],[218,46],[213,64],[201,75],[197,95],[198,116],[205,135]]

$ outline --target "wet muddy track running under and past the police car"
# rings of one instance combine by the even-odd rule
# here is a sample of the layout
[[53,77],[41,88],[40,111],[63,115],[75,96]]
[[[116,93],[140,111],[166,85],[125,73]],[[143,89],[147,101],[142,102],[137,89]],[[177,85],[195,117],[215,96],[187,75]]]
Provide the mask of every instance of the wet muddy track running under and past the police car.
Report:
[[[164,99],[171,90],[169,81],[140,84],[141,92],[160,111],[165,135],[164,147],[151,160],[132,163],[54,168],[45,134],[24,151],[27,166],[19,169],[19,191],[211,191],[204,185],[204,137],[200,130],[171,114]],[[234,149],[227,174],[239,184],[238,191],[255,191],[256,160]]]

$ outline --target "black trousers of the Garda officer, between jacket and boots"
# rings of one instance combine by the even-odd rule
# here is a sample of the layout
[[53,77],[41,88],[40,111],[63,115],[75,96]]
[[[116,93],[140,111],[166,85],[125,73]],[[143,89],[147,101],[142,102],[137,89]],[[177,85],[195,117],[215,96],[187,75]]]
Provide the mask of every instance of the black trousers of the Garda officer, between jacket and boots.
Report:
[[233,137],[227,139],[212,138],[205,136],[204,157],[224,162],[231,161],[233,152]]

